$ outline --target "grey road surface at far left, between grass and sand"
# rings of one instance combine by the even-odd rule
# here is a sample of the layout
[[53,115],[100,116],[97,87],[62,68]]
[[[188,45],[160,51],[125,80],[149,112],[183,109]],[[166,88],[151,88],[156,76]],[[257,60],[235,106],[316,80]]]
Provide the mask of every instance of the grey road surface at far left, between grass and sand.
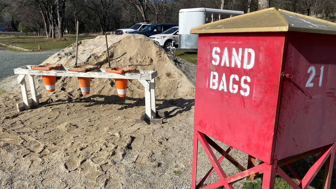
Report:
[[0,47],[0,81],[14,75],[14,68],[38,65],[61,49],[38,52],[13,52]]

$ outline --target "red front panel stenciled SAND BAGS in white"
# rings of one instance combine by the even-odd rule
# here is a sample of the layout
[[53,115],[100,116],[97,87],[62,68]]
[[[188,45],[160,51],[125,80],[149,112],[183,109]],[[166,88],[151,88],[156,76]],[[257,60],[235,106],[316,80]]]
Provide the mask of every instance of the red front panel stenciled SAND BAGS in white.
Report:
[[194,129],[273,162],[284,43],[284,33],[200,35]]

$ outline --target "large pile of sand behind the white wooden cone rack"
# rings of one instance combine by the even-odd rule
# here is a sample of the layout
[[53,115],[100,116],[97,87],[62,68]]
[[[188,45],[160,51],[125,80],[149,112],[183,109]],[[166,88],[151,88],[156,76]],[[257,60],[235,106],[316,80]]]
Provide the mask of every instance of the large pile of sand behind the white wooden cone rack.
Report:
[[[136,67],[137,70],[156,70],[156,97],[173,99],[193,96],[195,89],[196,65],[166,52],[156,41],[143,35],[108,35],[111,67]],[[75,65],[76,44],[55,53],[45,63],[57,63],[72,67]],[[108,68],[105,36],[79,42],[78,65],[96,65]],[[57,97],[63,93],[80,96],[76,77],[63,77],[56,83]],[[114,79],[92,78],[90,94],[116,95]],[[144,97],[143,86],[137,80],[129,80],[127,96]]]

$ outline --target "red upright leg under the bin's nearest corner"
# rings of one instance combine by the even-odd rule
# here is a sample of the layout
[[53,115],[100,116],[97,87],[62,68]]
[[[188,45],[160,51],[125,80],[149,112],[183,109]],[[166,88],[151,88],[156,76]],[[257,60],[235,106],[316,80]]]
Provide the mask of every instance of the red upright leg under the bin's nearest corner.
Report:
[[262,177],[262,189],[274,189],[277,168],[278,160],[274,160],[274,163],[271,165],[265,163],[264,176]]

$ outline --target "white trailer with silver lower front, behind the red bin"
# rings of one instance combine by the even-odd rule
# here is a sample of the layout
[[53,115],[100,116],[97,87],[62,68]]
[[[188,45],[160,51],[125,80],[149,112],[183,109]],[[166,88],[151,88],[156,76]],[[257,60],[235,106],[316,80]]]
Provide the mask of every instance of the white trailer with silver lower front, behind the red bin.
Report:
[[178,48],[176,50],[197,50],[198,34],[190,34],[190,29],[203,24],[244,14],[243,11],[214,8],[186,8],[178,13]]

